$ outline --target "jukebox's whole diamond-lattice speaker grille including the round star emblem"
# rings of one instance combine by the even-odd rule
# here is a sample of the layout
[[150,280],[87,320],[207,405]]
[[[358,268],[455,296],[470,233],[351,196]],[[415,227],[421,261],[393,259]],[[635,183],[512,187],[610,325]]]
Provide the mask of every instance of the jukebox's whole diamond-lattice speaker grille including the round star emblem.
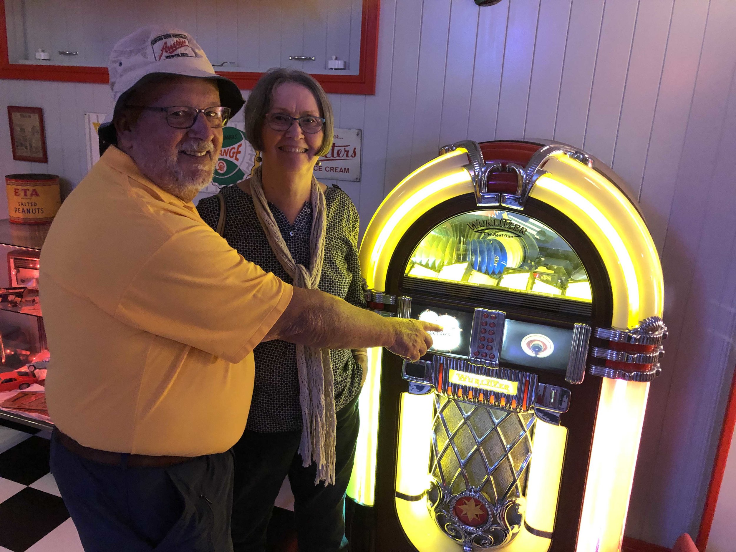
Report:
[[429,508],[467,550],[506,544],[523,523],[534,412],[434,401]]

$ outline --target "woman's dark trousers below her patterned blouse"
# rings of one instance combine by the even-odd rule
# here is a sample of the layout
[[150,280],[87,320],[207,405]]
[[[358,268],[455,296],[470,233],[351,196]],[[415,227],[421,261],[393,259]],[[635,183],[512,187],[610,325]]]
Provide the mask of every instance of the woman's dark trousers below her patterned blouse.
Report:
[[297,453],[301,431],[244,431],[235,450],[233,548],[265,552],[266,528],[284,478],[294,493],[300,552],[347,550],[345,490],[350,481],[358,439],[358,397],[336,413],[335,484],[314,484],[316,467],[302,467]]

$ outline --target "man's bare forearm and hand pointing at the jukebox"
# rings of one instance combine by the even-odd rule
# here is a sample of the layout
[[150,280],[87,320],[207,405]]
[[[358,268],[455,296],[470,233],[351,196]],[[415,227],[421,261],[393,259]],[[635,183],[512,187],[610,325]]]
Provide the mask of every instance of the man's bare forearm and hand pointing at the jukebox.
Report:
[[283,339],[328,349],[386,347],[417,361],[432,345],[427,330],[441,329],[420,320],[381,316],[324,291],[295,287],[289,306],[263,341]]

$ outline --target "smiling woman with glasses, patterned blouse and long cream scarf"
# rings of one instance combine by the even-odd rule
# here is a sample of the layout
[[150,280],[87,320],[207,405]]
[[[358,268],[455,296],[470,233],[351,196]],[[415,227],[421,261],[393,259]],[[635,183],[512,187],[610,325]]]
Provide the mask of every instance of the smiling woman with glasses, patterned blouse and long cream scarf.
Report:
[[[302,71],[272,69],[250,93],[245,121],[261,166],[221,197],[202,199],[202,219],[263,270],[364,306],[358,212],[340,188],[314,178],[333,137],[325,91]],[[235,550],[266,550],[266,526],[287,476],[300,551],[346,549],[344,500],[365,351],[272,341],[253,353],[252,406],[235,446]]]

